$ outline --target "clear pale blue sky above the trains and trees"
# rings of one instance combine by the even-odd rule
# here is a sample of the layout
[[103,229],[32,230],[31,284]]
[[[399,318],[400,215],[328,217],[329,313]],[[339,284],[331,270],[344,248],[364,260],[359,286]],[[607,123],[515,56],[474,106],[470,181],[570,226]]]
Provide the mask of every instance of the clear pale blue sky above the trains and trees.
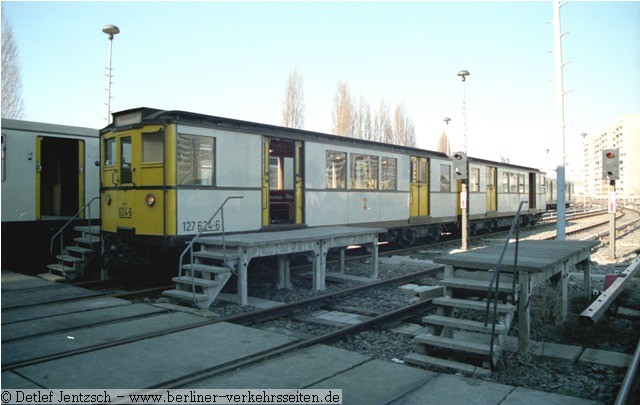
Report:
[[[561,7],[567,160],[581,136],[640,113],[640,2]],[[552,1],[3,1],[20,52],[24,119],[102,128],[111,110],[186,110],[279,125],[285,83],[303,78],[304,129],[331,132],[346,82],[357,102],[403,103],[418,146],[446,128],[462,150],[465,69],[471,156],[546,169],[560,150]],[[549,149],[550,153],[546,150]],[[546,161],[546,162],[545,162]],[[549,162],[551,162],[549,164]]]

